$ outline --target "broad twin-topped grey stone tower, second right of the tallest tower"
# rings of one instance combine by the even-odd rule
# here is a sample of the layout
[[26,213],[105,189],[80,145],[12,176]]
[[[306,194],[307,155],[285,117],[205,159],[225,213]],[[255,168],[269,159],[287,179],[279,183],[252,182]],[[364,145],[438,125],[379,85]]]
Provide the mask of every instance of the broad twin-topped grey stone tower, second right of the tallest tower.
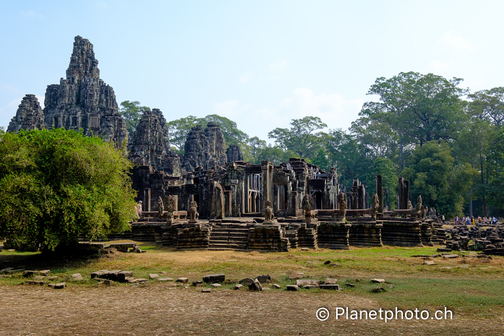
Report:
[[209,122],[205,129],[200,125],[192,127],[184,145],[183,169],[217,169],[226,162],[226,141],[219,124]]

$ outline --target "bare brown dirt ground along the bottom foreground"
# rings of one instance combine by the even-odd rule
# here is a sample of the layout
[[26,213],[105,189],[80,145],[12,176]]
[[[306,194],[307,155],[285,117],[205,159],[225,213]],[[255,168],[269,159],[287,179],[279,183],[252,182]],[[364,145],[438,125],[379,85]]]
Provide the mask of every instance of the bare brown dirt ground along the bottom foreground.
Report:
[[[202,293],[173,283],[147,287],[0,287],[0,335],[502,335],[502,318],[346,320],[337,307],[379,309],[341,292]],[[326,307],[331,315],[319,321]],[[421,307],[420,307],[421,308]]]

